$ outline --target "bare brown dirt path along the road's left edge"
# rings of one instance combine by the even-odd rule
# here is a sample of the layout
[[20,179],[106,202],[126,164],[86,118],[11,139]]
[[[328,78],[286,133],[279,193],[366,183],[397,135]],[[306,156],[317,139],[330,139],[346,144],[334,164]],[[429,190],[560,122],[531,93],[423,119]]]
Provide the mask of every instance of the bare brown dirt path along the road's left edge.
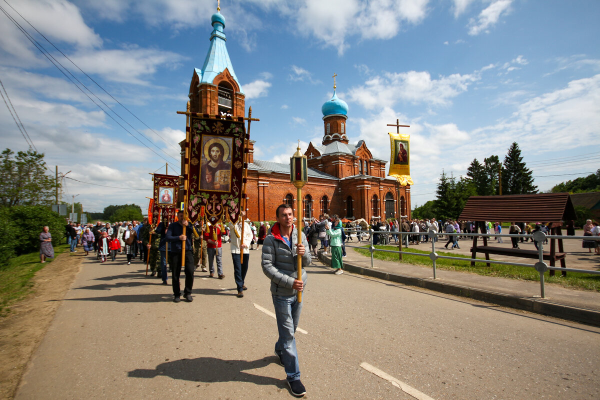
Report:
[[0,399],[12,399],[25,367],[80,270],[83,251],[64,252],[34,276],[34,288],[0,319]]

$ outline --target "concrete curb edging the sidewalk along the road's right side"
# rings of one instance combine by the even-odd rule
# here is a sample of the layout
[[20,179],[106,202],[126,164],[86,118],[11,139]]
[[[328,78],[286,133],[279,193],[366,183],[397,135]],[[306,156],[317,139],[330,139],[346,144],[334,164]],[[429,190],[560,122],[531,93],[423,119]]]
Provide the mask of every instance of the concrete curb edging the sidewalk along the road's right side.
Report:
[[[331,258],[322,255],[322,253],[319,253],[319,260],[323,264],[331,266]],[[385,272],[379,269],[359,267],[352,263],[347,263],[346,261],[344,261],[344,269],[348,272],[382,279],[383,281],[422,287],[428,290],[439,291],[440,293],[452,294],[453,296],[469,297],[469,299],[486,303],[494,303],[501,306],[535,312],[536,314],[562,318],[563,320],[600,326],[600,311],[593,309],[553,303],[544,299],[521,297],[515,296],[514,294],[498,293],[473,287],[448,284],[428,278],[415,278],[414,276],[400,275],[398,273]]]

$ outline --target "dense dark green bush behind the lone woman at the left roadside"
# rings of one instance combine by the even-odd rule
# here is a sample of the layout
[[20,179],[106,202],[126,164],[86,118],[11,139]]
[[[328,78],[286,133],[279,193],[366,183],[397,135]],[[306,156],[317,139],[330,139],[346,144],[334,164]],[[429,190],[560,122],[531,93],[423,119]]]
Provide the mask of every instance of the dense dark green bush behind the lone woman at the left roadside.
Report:
[[40,233],[50,228],[52,245],[65,237],[65,218],[45,206],[15,206],[0,209],[0,265],[11,257],[37,251]]

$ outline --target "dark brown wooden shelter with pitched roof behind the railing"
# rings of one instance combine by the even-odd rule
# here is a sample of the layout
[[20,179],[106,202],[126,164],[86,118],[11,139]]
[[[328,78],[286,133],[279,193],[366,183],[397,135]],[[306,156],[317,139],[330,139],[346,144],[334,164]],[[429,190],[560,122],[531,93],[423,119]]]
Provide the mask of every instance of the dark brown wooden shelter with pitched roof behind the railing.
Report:
[[[485,233],[484,221],[511,222],[547,222],[551,235],[562,235],[560,227],[563,221],[575,219],[575,208],[568,193],[539,193],[515,194],[509,196],[471,196],[464,206],[458,219],[475,221],[475,232]],[[488,246],[487,237],[483,237],[483,245],[478,246],[478,237],[473,237],[471,258],[479,253],[485,254],[485,260],[490,260],[490,254],[510,255],[514,257],[538,258],[538,251],[527,249],[508,249]],[[558,251],[556,245],[558,244]],[[560,266],[565,268],[566,253],[562,239],[550,239],[550,251],[544,251],[544,260],[555,266],[560,260]],[[475,261],[471,261],[475,265]],[[490,266],[490,263],[487,263]],[[550,270],[554,275],[554,270]],[[566,272],[562,273],[563,276]]]

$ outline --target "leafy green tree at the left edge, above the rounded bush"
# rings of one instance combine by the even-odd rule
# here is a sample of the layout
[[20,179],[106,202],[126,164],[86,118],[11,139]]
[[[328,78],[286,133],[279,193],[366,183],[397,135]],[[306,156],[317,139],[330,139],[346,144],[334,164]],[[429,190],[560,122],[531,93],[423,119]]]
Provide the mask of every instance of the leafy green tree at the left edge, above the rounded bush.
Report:
[[55,179],[46,175],[44,154],[29,149],[17,152],[5,149],[0,155],[0,206],[52,204]]

